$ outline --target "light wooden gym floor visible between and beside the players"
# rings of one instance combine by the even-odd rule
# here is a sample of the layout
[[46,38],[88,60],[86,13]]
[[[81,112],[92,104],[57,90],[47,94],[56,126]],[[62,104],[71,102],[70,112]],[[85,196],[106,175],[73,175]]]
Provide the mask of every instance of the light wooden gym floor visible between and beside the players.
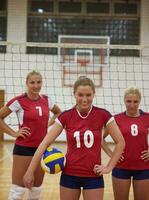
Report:
[[[55,143],[53,147],[60,148],[65,152],[65,143]],[[0,143],[0,200],[7,200],[9,187],[11,185],[11,167],[12,167],[12,148],[13,143],[1,142]],[[106,163],[108,157],[102,152],[103,163]],[[46,174],[43,183],[41,200],[59,200],[59,177],[60,174],[49,175]],[[105,193],[104,200],[114,200],[111,175],[105,175]],[[81,197],[80,200],[83,198]],[[130,192],[130,200],[132,200],[132,191]]]

